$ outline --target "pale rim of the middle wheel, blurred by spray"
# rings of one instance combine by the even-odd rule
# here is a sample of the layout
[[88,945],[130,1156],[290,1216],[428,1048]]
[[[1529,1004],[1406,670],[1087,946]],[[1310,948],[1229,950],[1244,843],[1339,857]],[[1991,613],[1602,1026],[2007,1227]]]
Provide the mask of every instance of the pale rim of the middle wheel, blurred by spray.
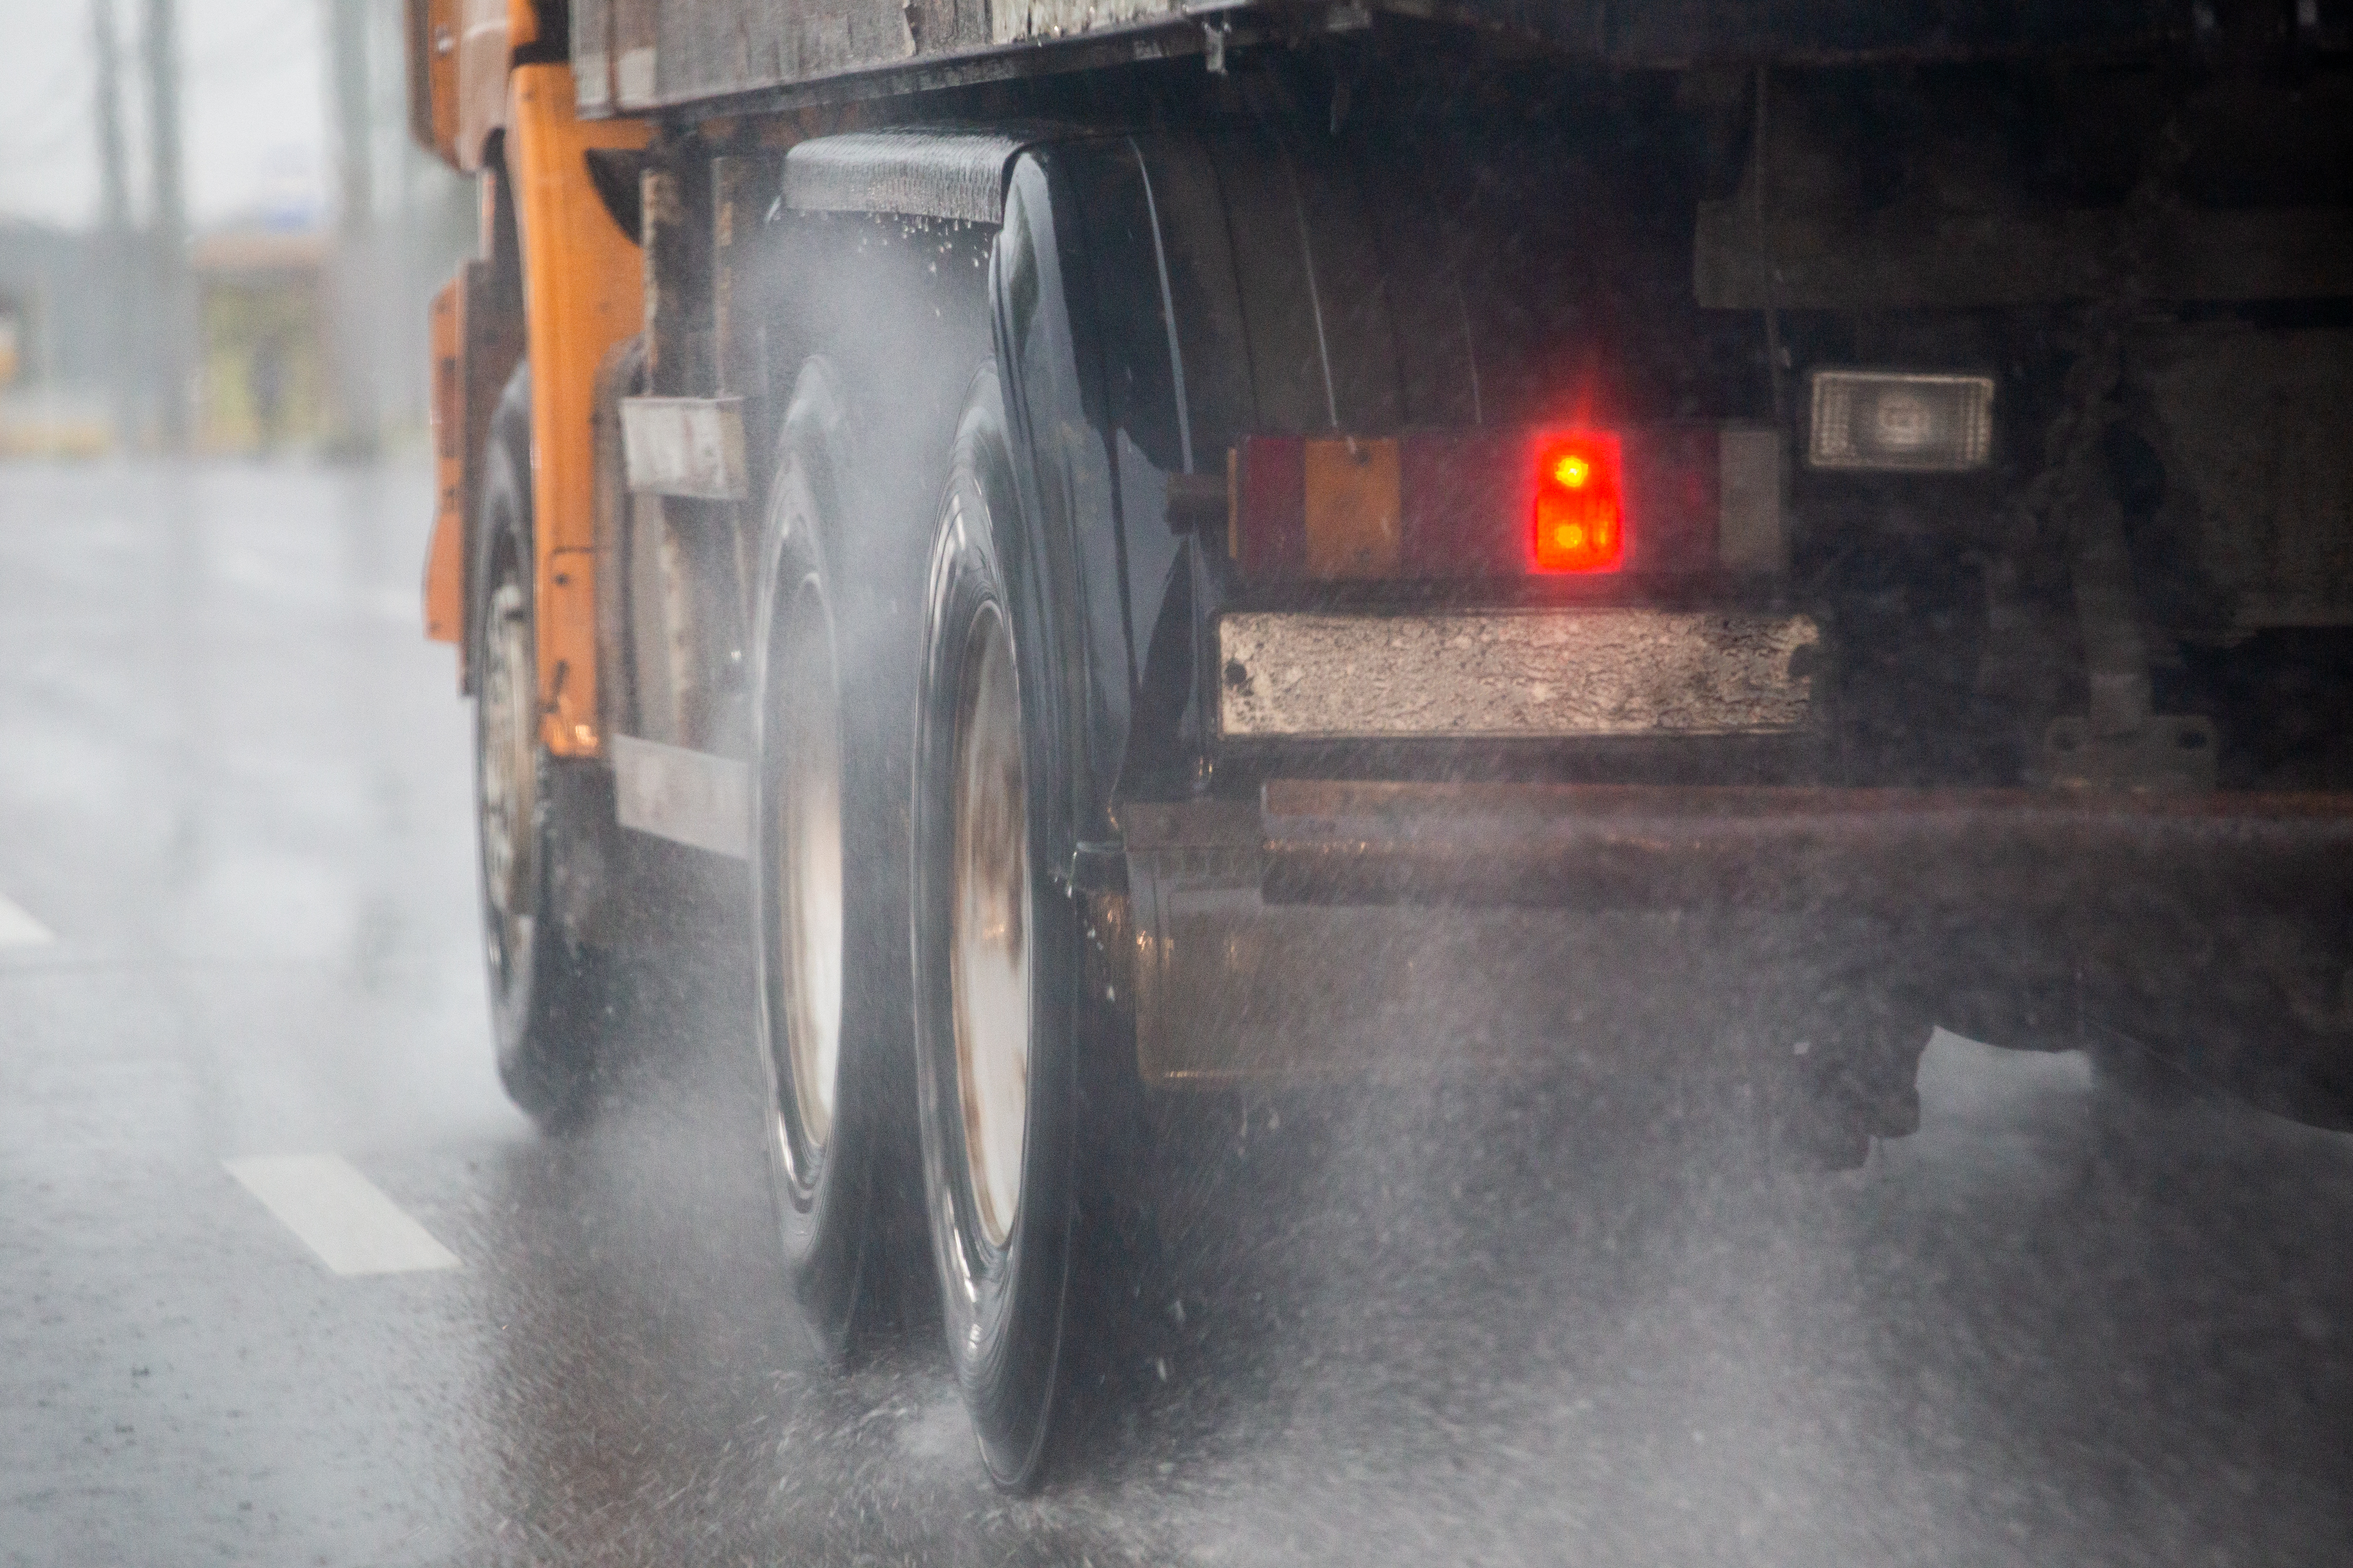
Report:
[[[793,1079],[786,1114],[798,1154],[824,1154],[833,1135],[835,1070],[842,1056],[842,736],[833,635],[814,581],[793,595],[781,670],[784,788],[776,799],[781,846],[784,1030]],[[802,1173],[807,1180],[807,1173]]]

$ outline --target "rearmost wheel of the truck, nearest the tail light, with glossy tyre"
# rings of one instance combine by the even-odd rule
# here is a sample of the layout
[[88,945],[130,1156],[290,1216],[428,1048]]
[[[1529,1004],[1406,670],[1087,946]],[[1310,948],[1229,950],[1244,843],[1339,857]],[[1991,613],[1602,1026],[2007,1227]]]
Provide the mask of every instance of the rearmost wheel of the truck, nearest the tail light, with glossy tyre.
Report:
[[915,1074],[948,1356],[988,1474],[1038,1479],[1064,1340],[1080,926],[1045,877],[1047,733],[1005,407],[974,383],[925,592],[915,733]]

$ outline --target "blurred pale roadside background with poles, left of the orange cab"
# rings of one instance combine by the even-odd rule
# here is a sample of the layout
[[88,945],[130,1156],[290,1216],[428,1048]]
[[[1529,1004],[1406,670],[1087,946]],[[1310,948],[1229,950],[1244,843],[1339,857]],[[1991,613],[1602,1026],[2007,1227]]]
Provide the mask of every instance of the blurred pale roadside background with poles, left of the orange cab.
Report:
[[473,188],[405,129],[400,0],[64,0],[0,52],[0,456],[424,442]]

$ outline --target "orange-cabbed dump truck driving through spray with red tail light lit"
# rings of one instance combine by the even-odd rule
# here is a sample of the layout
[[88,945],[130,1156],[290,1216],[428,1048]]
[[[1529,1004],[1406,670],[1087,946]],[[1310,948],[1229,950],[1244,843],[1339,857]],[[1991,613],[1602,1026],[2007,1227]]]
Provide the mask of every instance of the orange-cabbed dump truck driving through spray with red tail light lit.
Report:
[[734,900],[800,1314],[911,1246],[998,1483],[1134,1105],[1664,1072],[1661,931],[1831,954],[1814,1166],[1932,1023],[2353,1119],[2353,5],[405,26],[499,1072]]

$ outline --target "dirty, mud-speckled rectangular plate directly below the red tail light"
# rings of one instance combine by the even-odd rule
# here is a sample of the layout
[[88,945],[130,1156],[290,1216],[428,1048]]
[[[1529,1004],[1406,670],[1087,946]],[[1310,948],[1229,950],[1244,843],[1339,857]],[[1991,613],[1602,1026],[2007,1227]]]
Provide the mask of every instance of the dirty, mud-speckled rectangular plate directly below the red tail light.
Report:
[[1217,623],[1219,731],[1242,738],[1471,741],[1769,736],[1807,726],[1809,616],[1664,609],[1332,616]]

